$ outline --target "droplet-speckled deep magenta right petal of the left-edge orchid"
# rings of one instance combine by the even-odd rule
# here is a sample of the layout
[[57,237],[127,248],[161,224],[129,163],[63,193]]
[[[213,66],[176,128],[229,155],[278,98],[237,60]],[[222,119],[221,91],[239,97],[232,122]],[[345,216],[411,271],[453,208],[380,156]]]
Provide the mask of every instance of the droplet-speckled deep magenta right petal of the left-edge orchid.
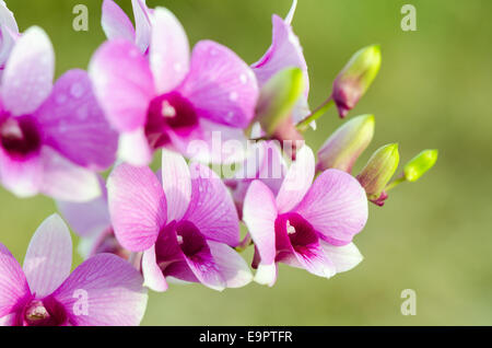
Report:
[[70,70],[36,113],[46,143],[72,162],[106,170],[115,162],[118,135],[110,129],[83,70]]

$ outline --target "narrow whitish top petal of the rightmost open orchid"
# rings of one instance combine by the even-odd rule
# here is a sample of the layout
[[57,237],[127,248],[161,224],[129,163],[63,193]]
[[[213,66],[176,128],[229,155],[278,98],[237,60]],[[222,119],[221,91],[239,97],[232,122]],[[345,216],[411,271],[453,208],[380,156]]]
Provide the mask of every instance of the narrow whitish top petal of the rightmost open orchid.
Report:
[[277,195],[277,207],[280,213],[288,212],[297,206],[309,189],[315,175],[315,156],[309,147],[304,146],[295,162],[291,164]]

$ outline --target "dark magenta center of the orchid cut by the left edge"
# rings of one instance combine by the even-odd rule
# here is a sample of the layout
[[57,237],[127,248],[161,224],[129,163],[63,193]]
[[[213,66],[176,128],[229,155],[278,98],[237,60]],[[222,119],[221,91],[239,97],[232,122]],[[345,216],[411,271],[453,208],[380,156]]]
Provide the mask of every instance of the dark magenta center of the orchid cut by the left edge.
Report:
[[1,147],[14,158],[26,158],[39,151],[42,139],[31,116],[9,117],[0,124]]

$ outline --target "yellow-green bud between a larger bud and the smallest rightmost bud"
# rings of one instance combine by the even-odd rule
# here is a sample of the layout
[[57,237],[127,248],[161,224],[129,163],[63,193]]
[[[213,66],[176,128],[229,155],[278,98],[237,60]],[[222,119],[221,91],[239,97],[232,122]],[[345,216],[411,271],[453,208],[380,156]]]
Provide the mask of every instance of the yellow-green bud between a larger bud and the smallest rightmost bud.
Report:
[[371,156],[361,174],[358,175],[370,200],[378,200],[382,197],[398,167],[399,160],[398,143],[384,146]]

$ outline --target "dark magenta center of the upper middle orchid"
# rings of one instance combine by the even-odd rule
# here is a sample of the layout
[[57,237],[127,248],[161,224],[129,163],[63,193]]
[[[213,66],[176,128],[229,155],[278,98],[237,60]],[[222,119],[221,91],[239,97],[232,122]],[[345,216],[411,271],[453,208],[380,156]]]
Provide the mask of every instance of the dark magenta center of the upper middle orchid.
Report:
[[154,149],[162,148],[169,138],[167,129],[177,134],[188,134],[198,124],[192,104],[178,92],[155,97],[148,111],[145,135]]

